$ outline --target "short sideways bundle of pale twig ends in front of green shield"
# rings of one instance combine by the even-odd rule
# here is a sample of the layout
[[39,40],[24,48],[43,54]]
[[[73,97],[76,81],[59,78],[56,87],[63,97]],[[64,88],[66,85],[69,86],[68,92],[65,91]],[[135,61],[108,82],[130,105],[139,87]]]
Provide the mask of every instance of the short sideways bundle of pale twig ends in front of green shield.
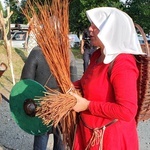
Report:
[[76,104],[76,98],[69,93],[62,94],[46,93],[44,97],[39,99],[40,106],[37,108],[36,116],[42,118],[45,125],[50,123],[57,126],[62,118],[73,109]]

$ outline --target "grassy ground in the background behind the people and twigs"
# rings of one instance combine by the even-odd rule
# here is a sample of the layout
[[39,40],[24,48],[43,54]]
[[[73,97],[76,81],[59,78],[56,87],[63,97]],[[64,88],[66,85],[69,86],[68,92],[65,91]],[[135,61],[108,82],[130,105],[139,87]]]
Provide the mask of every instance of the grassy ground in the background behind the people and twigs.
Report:
[[[72,52],[76,59],[82,58],[79,48],[72,49]],[[15,81],[20,80],[21,71],[24,65],[24,62],[27,58],[27,52],[21,49],[12,49],[12,63],[14,69]],[[0,63],[4,62],[7,66],[7,52],[2,44],[0,44]],[[4,94],[7,98],[10,94],[11,88],[13,87],[12,76],[10,67],[3,73],[0,77],[0,93]]]

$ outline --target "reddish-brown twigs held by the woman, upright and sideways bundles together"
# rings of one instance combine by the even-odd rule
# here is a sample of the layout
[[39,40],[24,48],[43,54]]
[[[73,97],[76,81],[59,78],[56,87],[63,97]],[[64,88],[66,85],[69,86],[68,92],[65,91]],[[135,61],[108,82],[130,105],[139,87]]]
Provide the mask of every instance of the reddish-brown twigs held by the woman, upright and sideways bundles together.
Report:
[[76,124],[76,113],[72,108],[76,104],[76,99],[69,94],[73,89],[70,80],[68,38],[69,2],[52,0],[40,3],[29,0],[22,11],[34,26],[32,32],[61,88],[61,92],[48,89],[45,96],[38,99],[40,106],[36,115],[41,117],[46,125],[52,123],[57,126],[60,122],[63,139],[71,148]]

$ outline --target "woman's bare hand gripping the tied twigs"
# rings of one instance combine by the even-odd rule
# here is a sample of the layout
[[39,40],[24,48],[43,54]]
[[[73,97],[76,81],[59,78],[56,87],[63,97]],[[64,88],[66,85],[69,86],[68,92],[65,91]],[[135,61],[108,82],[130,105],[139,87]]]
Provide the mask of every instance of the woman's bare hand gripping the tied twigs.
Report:
[[72,96],[74,96],[77,99],[77,103],[76,105],[73,107],[73,110],[76,112],[80,112],[80,111],[84,111],[88,109],[89,103],[90,101],[88,101],[87,99],[79,96],[76,93],[70,92],[70,94]]

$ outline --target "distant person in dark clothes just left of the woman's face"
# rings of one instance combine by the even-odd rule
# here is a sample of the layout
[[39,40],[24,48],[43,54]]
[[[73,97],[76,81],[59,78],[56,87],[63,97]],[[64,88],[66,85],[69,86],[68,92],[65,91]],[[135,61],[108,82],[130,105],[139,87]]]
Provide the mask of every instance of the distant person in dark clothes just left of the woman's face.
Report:
[[82,34],[81,40],[81,54],[83,55],[83,71],[87,69],[90,61],[90,57],[93,52],[96,50],[96,47],[91,44],[90,33],[88,29],[85,29]]

